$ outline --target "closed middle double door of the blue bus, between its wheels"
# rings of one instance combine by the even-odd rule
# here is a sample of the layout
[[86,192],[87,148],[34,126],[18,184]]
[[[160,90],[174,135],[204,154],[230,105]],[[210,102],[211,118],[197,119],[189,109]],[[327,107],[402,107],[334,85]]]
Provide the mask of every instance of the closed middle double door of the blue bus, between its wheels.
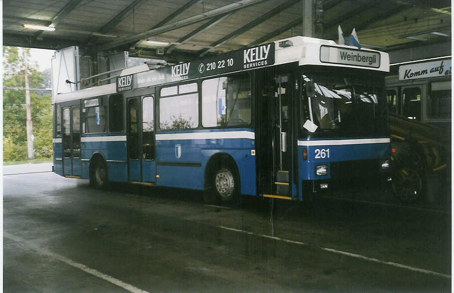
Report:
[[154,183],[156,177],[154,98],[127,102],[128,180]]

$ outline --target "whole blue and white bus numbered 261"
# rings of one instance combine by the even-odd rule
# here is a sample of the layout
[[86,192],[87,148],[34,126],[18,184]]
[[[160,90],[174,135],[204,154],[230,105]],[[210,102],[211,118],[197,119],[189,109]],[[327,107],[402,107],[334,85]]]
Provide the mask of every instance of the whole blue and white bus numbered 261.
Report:
[[387,53],[291,37],[58,94],[54,172],[304,200],[389,169]]

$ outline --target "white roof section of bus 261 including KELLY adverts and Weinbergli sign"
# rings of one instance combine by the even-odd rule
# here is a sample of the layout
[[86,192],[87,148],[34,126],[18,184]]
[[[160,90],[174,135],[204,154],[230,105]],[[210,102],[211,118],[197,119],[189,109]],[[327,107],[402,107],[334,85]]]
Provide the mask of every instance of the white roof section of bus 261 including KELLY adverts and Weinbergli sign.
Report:
[[298,62],[301,66],[335,66],[389,72],[387,53],[338,45],[332,40],[295,36],[154,70],[146,70],[144,65],[127,68],[116,78],[116,84],[57,94],[54,103],[292,62]]

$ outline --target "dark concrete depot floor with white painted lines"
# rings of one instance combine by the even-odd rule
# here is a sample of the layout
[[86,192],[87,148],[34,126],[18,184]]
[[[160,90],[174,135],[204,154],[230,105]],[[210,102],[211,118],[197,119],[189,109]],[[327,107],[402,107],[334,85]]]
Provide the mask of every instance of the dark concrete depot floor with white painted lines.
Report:
[[4,292],[451,292],[451,213],[3,170]]

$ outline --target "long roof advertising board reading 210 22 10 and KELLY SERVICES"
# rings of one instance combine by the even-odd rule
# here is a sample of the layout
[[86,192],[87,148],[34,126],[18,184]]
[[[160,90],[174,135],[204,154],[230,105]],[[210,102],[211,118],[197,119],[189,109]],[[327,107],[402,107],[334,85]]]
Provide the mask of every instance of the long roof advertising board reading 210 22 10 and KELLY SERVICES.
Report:
[[201,60],[137,73],[133,88],[154,86],[274,64],[274,42]]

